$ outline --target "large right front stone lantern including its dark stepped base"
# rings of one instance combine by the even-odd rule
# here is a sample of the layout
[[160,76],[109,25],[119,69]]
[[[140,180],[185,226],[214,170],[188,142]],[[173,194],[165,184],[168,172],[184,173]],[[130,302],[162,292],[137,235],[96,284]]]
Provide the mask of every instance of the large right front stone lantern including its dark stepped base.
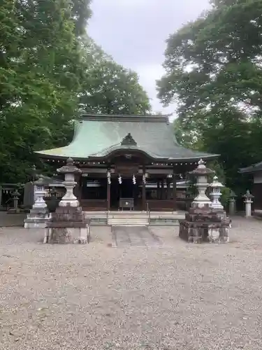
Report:
[[[197,176],[196,187],[198,195],[191,204],[191,208],[185,215],[185,220],[180,221],[179,236],[188,242],[202,243],[226,243],[228,242],[229,221],[224,214],[224,208],[216,208],[220,191],[216,191],[217,205],[212,207],[212,202],[205,195],[208,187],[207,176],[213,174],[211,169],[205,167],[203,160],[198,162],[198,167],[193,171]],[[221,205],[221,204],[220,204]]]

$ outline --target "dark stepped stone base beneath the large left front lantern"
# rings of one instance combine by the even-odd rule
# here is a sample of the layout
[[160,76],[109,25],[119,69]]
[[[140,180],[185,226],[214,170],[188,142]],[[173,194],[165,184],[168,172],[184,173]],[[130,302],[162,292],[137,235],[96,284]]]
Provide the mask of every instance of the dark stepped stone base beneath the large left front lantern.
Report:
[[67,244],[89,242],[89,221],[81,207],[58,207],[45,229],[44,243]]

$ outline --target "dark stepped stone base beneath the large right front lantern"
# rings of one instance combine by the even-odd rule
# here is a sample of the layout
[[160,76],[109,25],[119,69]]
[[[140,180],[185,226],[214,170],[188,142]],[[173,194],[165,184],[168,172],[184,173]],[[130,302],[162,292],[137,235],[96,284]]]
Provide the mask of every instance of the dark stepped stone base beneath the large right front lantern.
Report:
[[203,208],[190,208],[185,220],[180,221],[179,236],[193,243],[227,243],[229,220],[224,210]]

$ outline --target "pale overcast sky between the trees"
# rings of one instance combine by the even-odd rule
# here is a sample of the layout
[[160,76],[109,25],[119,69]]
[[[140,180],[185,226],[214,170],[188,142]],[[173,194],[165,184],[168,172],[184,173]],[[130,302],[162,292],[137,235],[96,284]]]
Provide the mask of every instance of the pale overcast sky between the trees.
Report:
[[153,111],[163,109],[155,80],[161,78],[166,39],[208,8],[208,0],[93,0],[89,35],[103,50],[140,76]]

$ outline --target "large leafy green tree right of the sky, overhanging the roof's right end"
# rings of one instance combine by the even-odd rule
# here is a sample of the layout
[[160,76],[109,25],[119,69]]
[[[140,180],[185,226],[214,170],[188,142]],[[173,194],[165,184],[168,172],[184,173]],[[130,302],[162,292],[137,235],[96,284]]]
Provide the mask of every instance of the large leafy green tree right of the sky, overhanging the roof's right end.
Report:
[[170,35],[163,104],[177,103],[180,137],[221,154],[228,186],[238,168],[261,161],[262,1],[214,0],[212,9]]

